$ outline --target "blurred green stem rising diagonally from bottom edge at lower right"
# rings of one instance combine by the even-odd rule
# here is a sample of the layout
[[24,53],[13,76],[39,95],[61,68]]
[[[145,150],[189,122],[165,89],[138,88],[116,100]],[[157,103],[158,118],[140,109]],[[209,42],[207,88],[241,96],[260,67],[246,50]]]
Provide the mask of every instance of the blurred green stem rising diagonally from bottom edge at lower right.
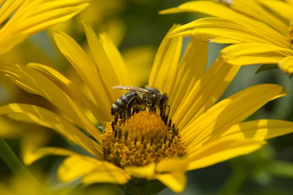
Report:
[[232,175],[226,181],[219,195],[235,195],[247,178],[247,173],[244,167],[239,167],[233,170]]

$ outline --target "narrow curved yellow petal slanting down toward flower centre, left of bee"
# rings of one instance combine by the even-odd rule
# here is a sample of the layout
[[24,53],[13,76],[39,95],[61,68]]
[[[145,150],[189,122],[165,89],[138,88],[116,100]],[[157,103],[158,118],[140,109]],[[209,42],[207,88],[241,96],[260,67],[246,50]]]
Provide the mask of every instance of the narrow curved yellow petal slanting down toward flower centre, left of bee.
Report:
[[58,71],[54,70],[53,68],[50,68],[42,64],[28,63],[26,66],[33,68],[35,70],[39,70],[42,73],[45,73],[57,79],[64,86],[68,87],[78,98],[80,98],[83,101],[83,103],[92,112],[92,114],[100,121],[101,124],[104,124],[104,122],[106,122],[106,118],[102,118],[103,117],[103,115],[101,115],[102,110],[84,93],[82,93],[81,90],[76,85],[74,85],[68,78],[64,77],[62,74],[60,74]]

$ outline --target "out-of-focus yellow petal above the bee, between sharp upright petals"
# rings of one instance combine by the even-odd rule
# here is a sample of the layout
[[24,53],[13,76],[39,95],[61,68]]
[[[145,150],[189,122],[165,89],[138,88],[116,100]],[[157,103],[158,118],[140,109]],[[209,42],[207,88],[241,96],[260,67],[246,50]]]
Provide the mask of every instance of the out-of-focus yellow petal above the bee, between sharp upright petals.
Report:
[[133,86],[140,87],[147,83],[155,55],[154,46],[136,46],[123,50],[122,56],[133,80]]

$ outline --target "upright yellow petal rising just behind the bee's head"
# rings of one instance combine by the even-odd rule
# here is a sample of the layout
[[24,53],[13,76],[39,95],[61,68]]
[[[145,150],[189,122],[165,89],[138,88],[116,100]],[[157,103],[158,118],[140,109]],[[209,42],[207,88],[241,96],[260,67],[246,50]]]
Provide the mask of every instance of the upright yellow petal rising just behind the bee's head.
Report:
[[[173,25],[169,32],[178,26]],[[149,76],[148,86],[155,87],[169,96],[172,95],[172,89],[178,72],[182,40],[182,37],[169,39],[167,36],[163,39]]]

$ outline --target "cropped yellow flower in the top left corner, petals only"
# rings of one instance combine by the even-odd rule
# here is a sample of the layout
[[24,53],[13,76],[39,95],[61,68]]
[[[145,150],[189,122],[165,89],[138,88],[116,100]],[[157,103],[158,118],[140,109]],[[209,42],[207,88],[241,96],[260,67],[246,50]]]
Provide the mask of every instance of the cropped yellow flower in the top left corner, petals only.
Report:
[[72,18],[89,5],[89,0],[0,0],[0,4],[1,55],[27,37]]

